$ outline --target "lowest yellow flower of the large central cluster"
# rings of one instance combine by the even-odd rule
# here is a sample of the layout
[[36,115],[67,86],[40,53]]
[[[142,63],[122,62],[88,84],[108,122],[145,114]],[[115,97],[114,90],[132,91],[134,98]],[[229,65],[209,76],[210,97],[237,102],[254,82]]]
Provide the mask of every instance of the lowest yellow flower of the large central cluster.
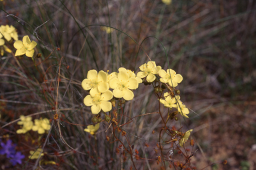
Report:
[[113,98],[113,94],[110,90],[101,94],[97,89],[91,91],[90,95],[87,95],[83,100],[85,106],[91,106],[91,113],[98,114],[101,110],[103,112],[109,112],[112,109],[111,102],[108,102]]

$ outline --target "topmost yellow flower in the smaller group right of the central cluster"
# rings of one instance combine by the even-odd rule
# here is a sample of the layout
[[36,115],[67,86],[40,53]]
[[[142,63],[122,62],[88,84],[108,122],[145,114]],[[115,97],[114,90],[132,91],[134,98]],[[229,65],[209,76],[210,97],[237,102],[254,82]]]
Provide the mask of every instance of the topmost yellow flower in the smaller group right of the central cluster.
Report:
[[147,82],[153,82],[155,80],[155,75],[159,70],[161,70],[161,66],[156,66],[154,61],[149,61],[147,64],[143,64],[139,67],[141,72],[137,73],[138,78],[144,78],[147,76]]

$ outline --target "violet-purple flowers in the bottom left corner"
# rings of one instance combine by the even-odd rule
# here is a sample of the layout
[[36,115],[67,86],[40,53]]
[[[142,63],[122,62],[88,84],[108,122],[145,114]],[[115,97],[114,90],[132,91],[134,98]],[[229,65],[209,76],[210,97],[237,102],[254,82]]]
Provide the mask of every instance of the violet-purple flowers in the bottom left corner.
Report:
[[0,150],[0,155],[6,155],[13,166],[22,163],[21,159],[25,158],[25,155],[22,155],[20,151],[15,151],[16,145],[12,143],[11,139],[6,143],[1,142],[1,147],[3,149]]

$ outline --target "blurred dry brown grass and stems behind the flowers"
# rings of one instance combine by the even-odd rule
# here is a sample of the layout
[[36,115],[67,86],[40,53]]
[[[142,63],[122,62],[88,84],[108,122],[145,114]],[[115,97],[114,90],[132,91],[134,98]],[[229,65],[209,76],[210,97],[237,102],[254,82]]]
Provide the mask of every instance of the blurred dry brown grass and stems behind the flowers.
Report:
[[[54,112],[47,110],[55,109],[57,83],[54,80],[57,80],[62,56],[59,107],[70,108],[62,112],[65,121],[91,124],[92,115],[83,104],[87,92],[80,85],[87,71],[113,72],[123,66],[137,72],[138,67],[149,60],[148,55],[157,65],[167,69],[169,64],[183,76],[178,88],[181,100],[191,113],[189,119],[172,122],[170,126],[182,125],[184,131],[193,128],[192,135],[197,143],[194,149],[199,148],[199,151],[191,163],[197,169],[207,165],[210,166],[206,169],[256,169],[255,0],[173,0],[170,5],[149,0],[3,0],[0,3],[1,25],[17,28],[19,39],[30,35],[31,40],[37,41],[36,53],[42,54],[35,59],[38,70],[26,56],[17,58],[23,70],[10,54],[1,57],[1,126],[21,114],[45,111],[45,117],[53,118]],[[115,29],[107,33],[100,25]],[[11,44],[9,48],[13,49]],[[125,105],[127,115],[157,112],[158,103],[152,94],[151,86],[140,86],[133,102]],[[133,134],[131,143],[141,149],[141,153],[145,151],[145,140],[157,141],[158,135],[151,133],[154,128],[159,131],[157,128],[163,127],[155,121],[157,118],[154,114],[137,118],[127,126],[127,131]],[[18,127],[12,124],[8,130],[15,131]],[[85,127],[62,122],[61,128],[69,145],[89,155],[95,154],[95,139],[83,131]],[[101,126],[97,149],[108,143],[105,140],[107,128],[107,124]],[[1,136],[7,133],[1,131]],[[51,152],[66,151],[61,158],[65,160],[62,169],[83,169],[85,165],[95,169],[121,168],[115,155],[118,143],[105,149],[105,153],[99,151],[97,157],[101,159],[96,161],[70,151],[59,139],[57,126],[51,130],[51,135],[47,144],[54,148]],[[22,142],[23,136],[15,133],[10,136],[19,142],[20,150],[29,151],[29,144]],[[59,145],[53,146],[53,140]],[[154,147],[155,143],[151,143],[147,149],[150,154],[141,156],[155,158]],[[55,158],[56,162],[58,160]],[[227,165],[221,164],[223,160],[227,160]],[[115,164],[111,165],[112,162]],[[129,165],[123,168],[128,169]],[[138,161],[137,165],[138,169],[159,166],[153,161],[149,164]],[[33,163],[27,166],[33,167]],[[48,167],[51,168],[57,167]]]

